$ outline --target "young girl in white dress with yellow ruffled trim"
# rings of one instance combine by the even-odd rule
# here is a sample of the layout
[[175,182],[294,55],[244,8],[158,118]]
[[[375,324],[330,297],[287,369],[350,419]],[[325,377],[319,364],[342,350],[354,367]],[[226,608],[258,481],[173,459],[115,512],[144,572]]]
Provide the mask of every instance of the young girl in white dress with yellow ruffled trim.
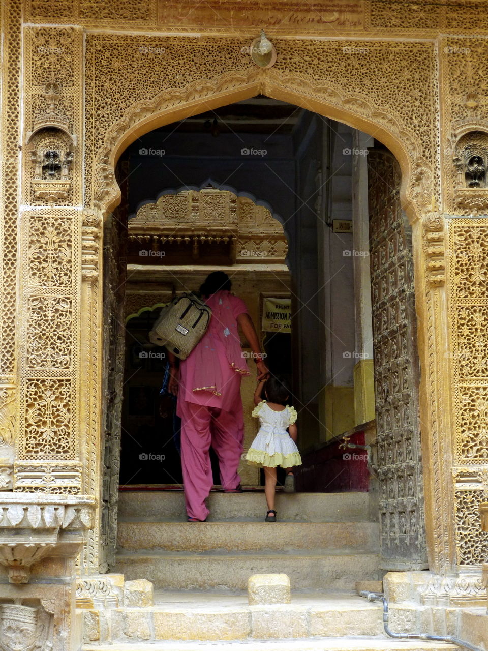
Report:
[[[266,400],[262,400],[262,391]],[[295,476],[292,467],[300,465],[302,460],[298,451],[297,441],[297,412],[295,408],[286,404],[290,392],[278,378],[269,377],[261,380],[254,391],[254,404],[252,412],[254,417],[261,421],[261,428],[251,443],[244,458],[251,465],[264,467],[265,488],[264,493],[267,503],[265,522],[276,522],[275,488],[277,466],[286,469],[284,491],[293,493],[295,490]],[[286,429],[288,428],[288,432]]]

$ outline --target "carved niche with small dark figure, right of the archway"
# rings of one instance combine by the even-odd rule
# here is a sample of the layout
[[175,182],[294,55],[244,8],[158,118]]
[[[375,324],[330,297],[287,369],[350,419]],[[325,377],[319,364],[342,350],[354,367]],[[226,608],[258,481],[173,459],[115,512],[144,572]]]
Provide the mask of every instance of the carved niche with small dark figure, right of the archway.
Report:
[[488,214],[488,133],[465,133],[453,161],[455,207],[465,215]]

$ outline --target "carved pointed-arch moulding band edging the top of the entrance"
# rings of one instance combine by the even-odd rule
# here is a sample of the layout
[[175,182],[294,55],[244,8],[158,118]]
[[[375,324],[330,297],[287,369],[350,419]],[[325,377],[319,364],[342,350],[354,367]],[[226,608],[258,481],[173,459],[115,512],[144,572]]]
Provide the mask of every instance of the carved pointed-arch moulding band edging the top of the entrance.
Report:
[[[368,96],[364,92],[348,92],[347,82],[351,80],[347,76],[340,79],[342,85],[336,79],[334,82],[317,83],[316,80],[314,83],[311,77],[275,68],[267,71],[255,68],[234,70],[210,80],[189,83],[183,89],[161,92],[150,101],[139,101],[131,105],[107,130],[103,145],[98,152],[94,152],[94,209],[102,217],[117,204],[119,192],[114,166],[122,150],[139,135],[202,110],[262,93],[346,122],[383,141],[400,164],[401,200],[405,212],[415,224],[418,217],[427,210],[432,210],[434,199],[432,152],[426,150],[426,143],[422,143],[422,139],[416,135],[414,120],[411,124],[405,124],[393,102],[390,110],[385,111],[384,103],[380,105],[375,102],[374,93]],[[439,223],[434,224],[432,230],[435,229],[440,230]],[[421,240],[418,238],[422,238],[422,232],[418,224],[415,230],[417,236],[414,235],[414,255],[418,265],[421,264],[422,255],[419,249]],[[422,276],[421,272],[419,277]],[[422,310],[421,299],[417,305],[418,310]]]

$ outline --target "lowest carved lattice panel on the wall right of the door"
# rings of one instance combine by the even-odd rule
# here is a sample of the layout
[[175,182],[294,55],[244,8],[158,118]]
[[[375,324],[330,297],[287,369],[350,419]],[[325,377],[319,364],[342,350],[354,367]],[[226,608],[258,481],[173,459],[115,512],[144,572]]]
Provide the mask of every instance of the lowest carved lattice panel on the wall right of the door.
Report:
[[488,558],[488,533],[481,531],[480,503],[484,490],[455,492],[456,549],[459,565],[483,563]]

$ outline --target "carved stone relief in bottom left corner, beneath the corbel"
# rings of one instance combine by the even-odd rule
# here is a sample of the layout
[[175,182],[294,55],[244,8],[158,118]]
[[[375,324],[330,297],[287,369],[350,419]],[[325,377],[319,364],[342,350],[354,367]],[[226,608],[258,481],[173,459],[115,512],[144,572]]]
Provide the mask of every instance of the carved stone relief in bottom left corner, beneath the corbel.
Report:
[[15,603],[0,605],[1,651],[33,651],[38,644],[38,609]]

